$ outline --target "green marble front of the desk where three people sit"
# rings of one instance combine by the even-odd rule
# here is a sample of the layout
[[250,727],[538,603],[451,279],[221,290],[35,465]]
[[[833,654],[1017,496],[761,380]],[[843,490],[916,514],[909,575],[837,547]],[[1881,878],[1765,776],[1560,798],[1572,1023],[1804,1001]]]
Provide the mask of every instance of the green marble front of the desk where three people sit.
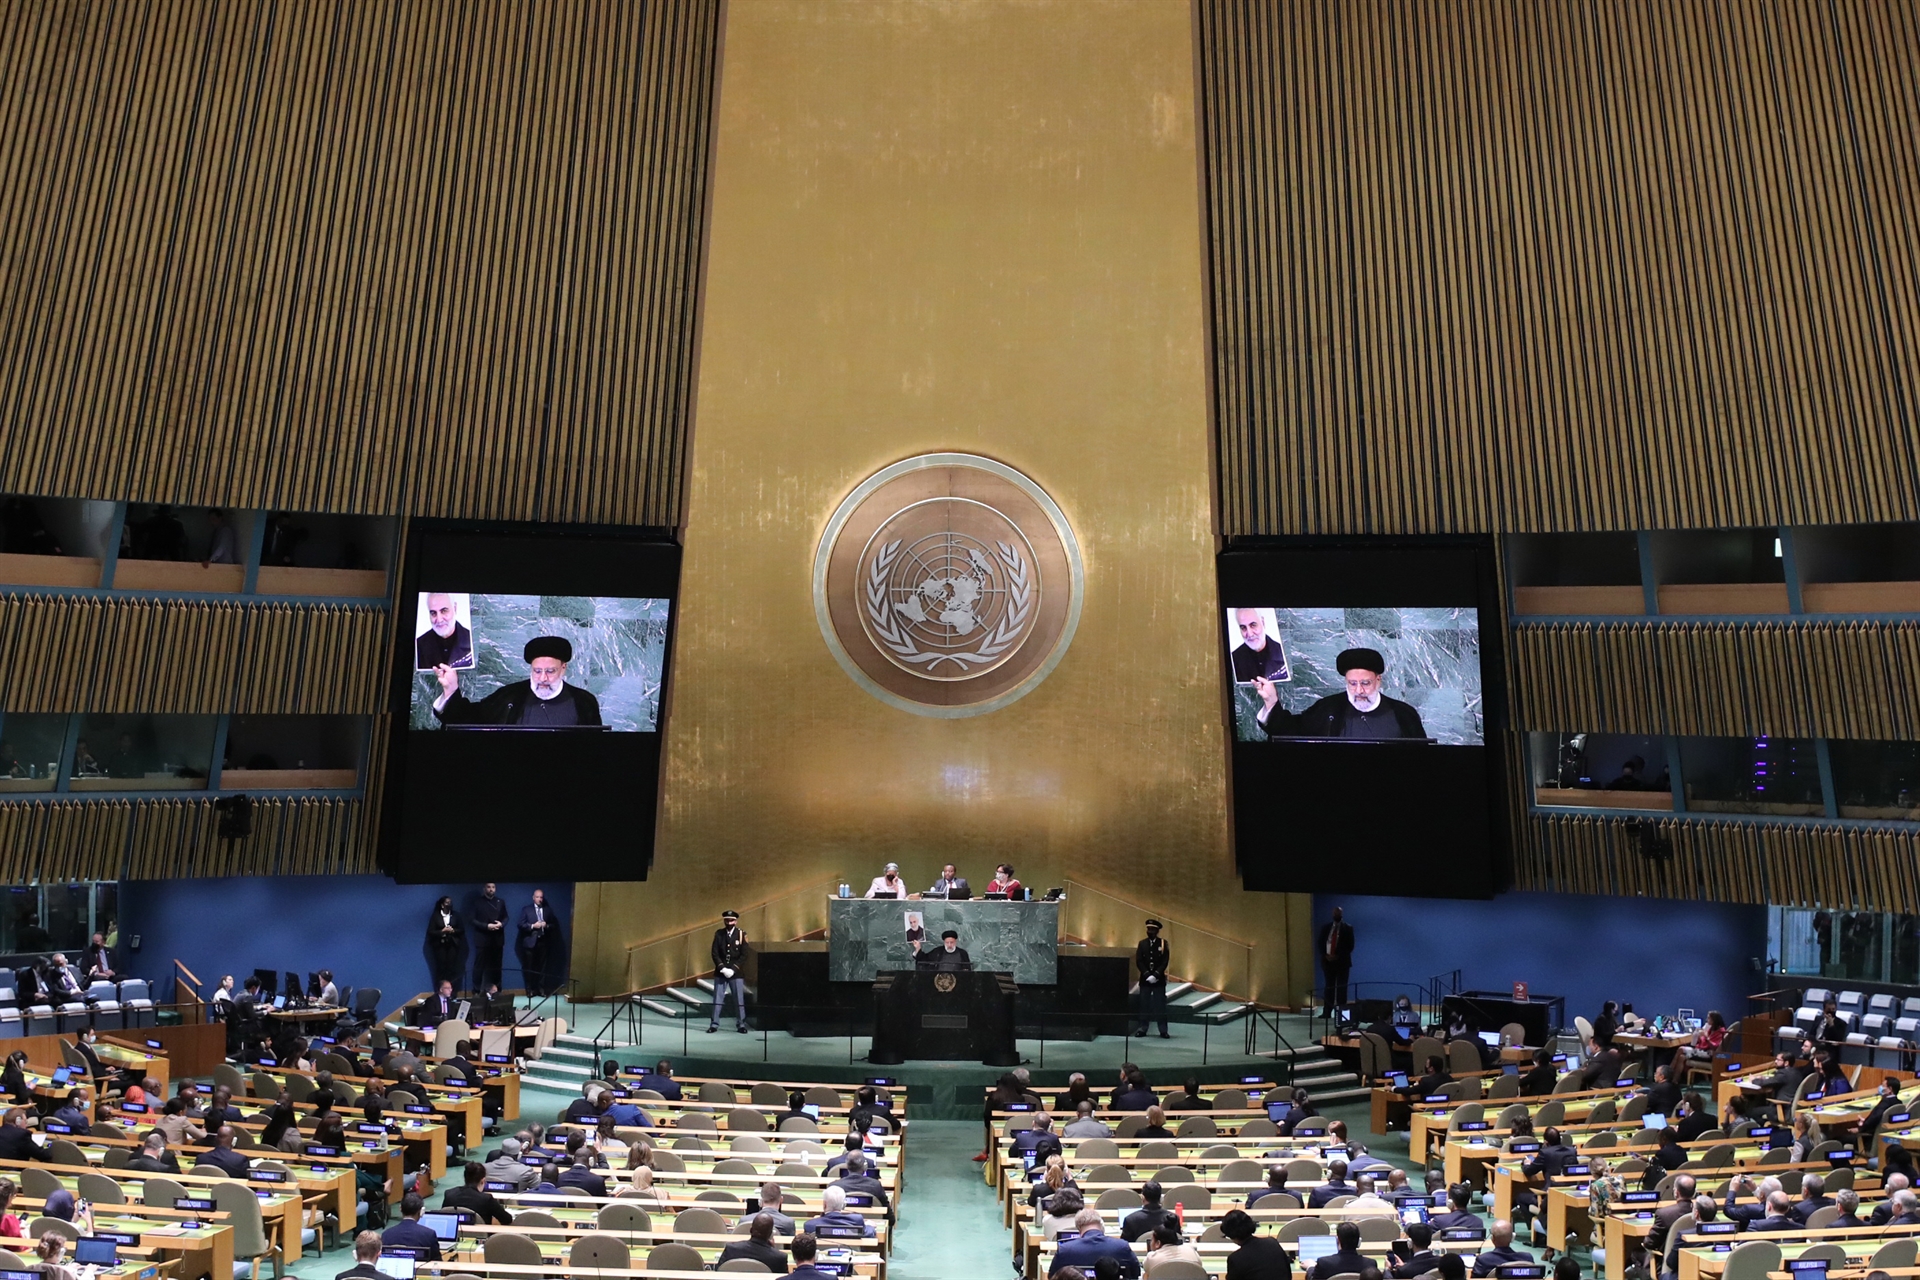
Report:
[[828,979],[872,983],[879,973],[914,967],[906,913],[918,912],[925,940],[937,948],[954,929],[975,969],[1012,973],[1021,986],[1052,986],[1060,967],[1058,902],[989,902],[970,898],[829,898]]

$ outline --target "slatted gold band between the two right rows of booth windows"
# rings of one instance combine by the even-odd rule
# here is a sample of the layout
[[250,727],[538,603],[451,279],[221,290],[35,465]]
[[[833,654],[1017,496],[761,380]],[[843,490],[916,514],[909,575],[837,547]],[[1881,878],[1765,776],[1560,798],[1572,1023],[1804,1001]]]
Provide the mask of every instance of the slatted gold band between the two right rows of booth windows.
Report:
[[1920,737],[1920,622],[1553,624],[1511,633],[1513,723]]

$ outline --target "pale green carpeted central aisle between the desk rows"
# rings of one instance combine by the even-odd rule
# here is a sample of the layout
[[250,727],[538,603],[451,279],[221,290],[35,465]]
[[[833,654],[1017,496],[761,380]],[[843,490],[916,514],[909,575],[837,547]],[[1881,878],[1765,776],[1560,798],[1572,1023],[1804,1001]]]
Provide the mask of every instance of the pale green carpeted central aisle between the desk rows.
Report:
[[891,1280],[1004,1280],[1014,1238],[987,1186],[979,1121],[914,1121],[906,1140],[906,1188],[887,1261]]

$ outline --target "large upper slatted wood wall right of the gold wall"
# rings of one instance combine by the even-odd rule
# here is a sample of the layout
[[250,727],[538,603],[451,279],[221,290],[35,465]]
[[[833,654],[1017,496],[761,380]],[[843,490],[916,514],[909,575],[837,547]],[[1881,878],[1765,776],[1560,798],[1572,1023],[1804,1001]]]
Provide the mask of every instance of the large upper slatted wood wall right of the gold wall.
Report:
[[1920,518],[1920,10],[1196,0],[1221,528]]

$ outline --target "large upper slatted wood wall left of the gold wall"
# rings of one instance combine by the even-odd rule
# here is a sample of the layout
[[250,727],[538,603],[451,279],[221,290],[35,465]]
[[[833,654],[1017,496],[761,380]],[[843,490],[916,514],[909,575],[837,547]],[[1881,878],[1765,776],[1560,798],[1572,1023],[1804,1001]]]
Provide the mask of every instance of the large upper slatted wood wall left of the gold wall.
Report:
[[718,0],[0,0],[0,491],[678,526]]

